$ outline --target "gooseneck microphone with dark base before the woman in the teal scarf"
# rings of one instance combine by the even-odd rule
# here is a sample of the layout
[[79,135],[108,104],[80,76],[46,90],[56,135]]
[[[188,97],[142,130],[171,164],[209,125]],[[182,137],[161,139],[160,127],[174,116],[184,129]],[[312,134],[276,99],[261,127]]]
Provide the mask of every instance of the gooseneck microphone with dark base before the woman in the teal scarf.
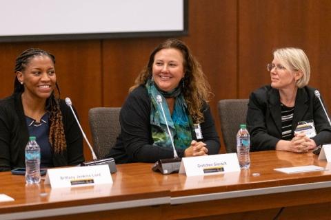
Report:
[[153,171],[159,171],[162,174],[170,174],[170,173],[178,173],[179,168],[181,166],[181,158],[178,157],[176,148],[174,147],[174,140],[172,140],[172,135],[169,129],[167,118],[165,118],[165,113],[162,107],[162,97],[160,95],[157,95],[157,102],[161,106],[161,111],[163,114],[163,119],[165,121],[165,126],[167,127],[168,134],[170,136],[170,141],[172,144],[172,150],[174,152],[174,158],[170,159],[159,159],[157,162],[155,162],[154,166],[152,167]]

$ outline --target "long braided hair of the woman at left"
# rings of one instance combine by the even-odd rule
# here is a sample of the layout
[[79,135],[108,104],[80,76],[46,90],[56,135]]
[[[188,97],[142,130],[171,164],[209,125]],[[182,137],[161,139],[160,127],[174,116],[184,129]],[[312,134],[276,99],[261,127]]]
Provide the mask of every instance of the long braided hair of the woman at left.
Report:
[[[55,57],[52,54],[40,49],[30,48],[22,52],[16,58],[14,72],[23,72],[34,56],[48,56],[53,64],[55,64]],[[54,153],[61,153],[66,150],[67,144],[62,122],[62,113],[59,105],[60,89],[57,83],[55,83],[55,85],[57,87],[57,96],[54,91],[52,91],[52,94],[46,100],[46,106],[48,107],[48,111],[50,111],[50,131],[48,134],[48,140]],[[21,85],[17,77],[15,77],[13,94],[20,94],[23,93],[23,91],[24,86]]]

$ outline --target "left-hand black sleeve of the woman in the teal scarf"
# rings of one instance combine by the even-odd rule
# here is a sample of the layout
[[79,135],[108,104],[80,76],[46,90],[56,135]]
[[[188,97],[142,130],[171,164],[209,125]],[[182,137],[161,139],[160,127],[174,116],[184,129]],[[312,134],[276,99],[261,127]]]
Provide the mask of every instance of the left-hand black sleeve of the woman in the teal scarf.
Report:
[[[156,162],[174,157],[172,148],[152,145],[150,131],[150,98],[144,87],[132,91],[119,116],[123,144],[129,162]],[[179,157],[184,150],[176,148]]]

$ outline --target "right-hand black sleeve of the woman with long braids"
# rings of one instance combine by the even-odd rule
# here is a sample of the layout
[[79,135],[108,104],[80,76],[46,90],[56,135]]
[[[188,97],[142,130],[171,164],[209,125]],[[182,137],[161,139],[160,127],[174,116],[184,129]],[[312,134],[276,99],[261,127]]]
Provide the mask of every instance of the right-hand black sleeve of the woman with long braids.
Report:
[[[74,109],[74,107],[72,107]],[[74,112],[77,115],[76,109]],[[77,165],[84,162],[83,135],[79,129],[74,115],[69,107],[63,106],[63,124],[65,125],[68,165]],[[77,115],[78,118],[78,115]]]

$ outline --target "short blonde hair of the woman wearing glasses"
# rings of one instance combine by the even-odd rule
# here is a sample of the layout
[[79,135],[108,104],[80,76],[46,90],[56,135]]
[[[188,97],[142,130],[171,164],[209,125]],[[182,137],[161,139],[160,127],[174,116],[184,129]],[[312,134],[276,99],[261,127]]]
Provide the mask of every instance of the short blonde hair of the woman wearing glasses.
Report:
[[302,88],[308,85],[310,80],[310,65],[305,52],[299,48],[285,47],[274,50],[274,58],[277,58],[286,69],[301,71],[303,76],[295,83]]

